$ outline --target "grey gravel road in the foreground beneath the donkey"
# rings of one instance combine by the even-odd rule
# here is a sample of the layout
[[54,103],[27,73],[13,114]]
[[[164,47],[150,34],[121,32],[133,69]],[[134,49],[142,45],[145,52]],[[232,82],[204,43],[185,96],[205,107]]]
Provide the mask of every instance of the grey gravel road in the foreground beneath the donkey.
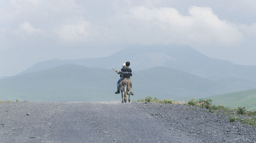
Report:
[[256,128],[186,105],[13,102],[0,103],[0,142],[256,142]]

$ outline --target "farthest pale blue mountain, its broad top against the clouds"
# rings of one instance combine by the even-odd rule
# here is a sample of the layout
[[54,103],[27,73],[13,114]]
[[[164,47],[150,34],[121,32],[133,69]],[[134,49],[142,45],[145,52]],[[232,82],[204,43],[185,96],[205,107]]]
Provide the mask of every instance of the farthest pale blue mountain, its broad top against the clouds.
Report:
[[54,59],[39,62],[21,74],[66,64],[119,69],[126,61],[131,62],[134,71],[164,66],[214,80],[229,78],[256,80],[256,66],[236,65],[228,61],[212,59],[193,48],[177,45],[133,46],[104,58]]

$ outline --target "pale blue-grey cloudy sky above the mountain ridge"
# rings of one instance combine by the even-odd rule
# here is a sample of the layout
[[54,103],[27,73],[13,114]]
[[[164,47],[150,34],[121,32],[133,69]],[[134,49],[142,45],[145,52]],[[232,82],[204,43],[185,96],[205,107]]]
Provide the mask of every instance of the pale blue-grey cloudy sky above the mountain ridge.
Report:
[[0,77],[134,44],[189,45],[256,65],[256,1],[0,0]]

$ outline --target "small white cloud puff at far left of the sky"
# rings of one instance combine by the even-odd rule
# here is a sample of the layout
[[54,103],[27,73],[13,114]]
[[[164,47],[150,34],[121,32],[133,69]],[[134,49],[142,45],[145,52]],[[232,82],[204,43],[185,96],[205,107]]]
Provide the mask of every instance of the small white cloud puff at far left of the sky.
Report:
[[22,24],[19,24],[18,31],[20,33],[26,34],[28,36],[41,32],[41,30],[39,28],[35,28],[28,21],[26,21],[26,22],[24,22]]

